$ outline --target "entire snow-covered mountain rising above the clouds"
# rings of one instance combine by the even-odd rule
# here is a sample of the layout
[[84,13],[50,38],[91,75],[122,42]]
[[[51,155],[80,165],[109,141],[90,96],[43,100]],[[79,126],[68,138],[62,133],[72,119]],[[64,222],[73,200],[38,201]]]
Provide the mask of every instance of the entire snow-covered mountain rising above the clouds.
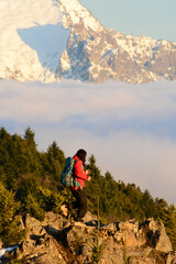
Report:
[[0,32],[0,78],[176,79],[176,43],[105,29],[78,0],[1,0]]

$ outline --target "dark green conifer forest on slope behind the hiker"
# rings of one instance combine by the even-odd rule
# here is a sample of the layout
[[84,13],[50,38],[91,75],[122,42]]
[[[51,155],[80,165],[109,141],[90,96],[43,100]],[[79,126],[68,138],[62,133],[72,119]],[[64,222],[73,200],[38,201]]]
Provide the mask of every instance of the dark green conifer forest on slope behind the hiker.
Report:
[[[25,231],[19,229],[19,216],[30,213],[43,220],[45,211],[61,213],[61,206],[67,205],[69,218],[74,216],[73,196],[62,186],[61,174],[65,166],[65,154],[56,142],[47,151],[40,152],[35,133],[31,128],[23,135],[10,134],[0,129],[0,239],[4,243],[19,243]],[[148,190],[142,191],[135,184],[124,184],[121,175],[101,170],[96,157],[89,157],[87,167],[91,182],[86,183],[88,210],[99,213],[102,222],[147,218],[163,221],[173,248],[176,250],[176,207],[162,197],[153,198]]]

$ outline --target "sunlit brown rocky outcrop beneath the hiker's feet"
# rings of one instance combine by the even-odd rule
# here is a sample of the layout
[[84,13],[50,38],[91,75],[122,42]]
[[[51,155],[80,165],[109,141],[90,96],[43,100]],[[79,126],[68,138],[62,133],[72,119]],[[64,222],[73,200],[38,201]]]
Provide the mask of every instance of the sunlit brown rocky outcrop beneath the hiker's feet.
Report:
[[134,219],[98,224],[97,217],[90,212],[87,212],[84,223],[46,212],[42,222],[26,215],[22,223],[21,228],[28,229],[26,238],[1,258],[2,263],[18,258],[22,263],[88,264],[92,263],[97,241],[99,248],[103,245],[101,264],[176,263],[176,252],[163,223],[153,219],[141,226]]

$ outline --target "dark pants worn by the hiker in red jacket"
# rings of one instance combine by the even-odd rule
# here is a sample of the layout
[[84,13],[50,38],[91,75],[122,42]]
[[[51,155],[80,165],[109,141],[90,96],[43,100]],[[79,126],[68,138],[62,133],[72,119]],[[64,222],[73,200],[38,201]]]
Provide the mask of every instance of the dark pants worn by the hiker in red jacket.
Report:
[[72,190],[76,198],[76,207],[78,208],[77,218],[84,218],[87,212],[87,198],[84,189]]

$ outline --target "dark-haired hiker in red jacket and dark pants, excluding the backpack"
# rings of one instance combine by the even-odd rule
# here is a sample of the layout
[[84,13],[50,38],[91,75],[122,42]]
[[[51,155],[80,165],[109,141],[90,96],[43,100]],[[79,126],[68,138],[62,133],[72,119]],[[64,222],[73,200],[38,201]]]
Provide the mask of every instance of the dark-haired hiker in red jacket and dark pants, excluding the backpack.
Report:
[[86,156],[87,153],[85,150],[77,151],[76,155],[74,156],[74,160],[76,160],[76,162],[73,169],[73,176],[80,184],[80,187],[70,187],[70,190],[76,198],[76,207],[78,208],[78,213],[75,220],[80,222],[82,222],[82,218],[87,212],[87,198],[84,190],[85,180],[91,180],[91,177],[89,176],[90,170],[86,169],[85,167]]

